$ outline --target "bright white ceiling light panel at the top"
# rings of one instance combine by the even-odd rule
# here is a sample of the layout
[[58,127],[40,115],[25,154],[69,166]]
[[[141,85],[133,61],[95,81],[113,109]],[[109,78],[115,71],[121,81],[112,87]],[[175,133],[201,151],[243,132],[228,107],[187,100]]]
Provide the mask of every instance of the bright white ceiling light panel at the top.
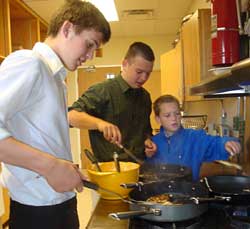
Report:
[[114,0],[87,0],[95,5],[107,21],[119,21]]

